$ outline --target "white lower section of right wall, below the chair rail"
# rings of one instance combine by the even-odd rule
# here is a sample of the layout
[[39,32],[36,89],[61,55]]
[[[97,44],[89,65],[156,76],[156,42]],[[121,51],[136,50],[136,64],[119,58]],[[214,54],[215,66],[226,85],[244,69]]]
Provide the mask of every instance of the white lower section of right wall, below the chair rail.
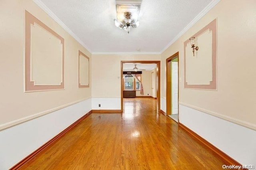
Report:
[[256,131],[179,105],[179,121],[242,165],[256,166]]

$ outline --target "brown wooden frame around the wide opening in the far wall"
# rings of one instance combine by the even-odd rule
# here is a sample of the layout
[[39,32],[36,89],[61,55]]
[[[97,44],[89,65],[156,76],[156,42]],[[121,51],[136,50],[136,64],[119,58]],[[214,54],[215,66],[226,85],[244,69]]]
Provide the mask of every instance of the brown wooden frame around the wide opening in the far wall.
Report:
[[[136,63],[136,64],[156,64],[156,100],[157,110],[160,111],[160,61],[121,61],[121,110],[123,112],[123,65],[124,63]],[[150,77],[151,78],[151,77]]]

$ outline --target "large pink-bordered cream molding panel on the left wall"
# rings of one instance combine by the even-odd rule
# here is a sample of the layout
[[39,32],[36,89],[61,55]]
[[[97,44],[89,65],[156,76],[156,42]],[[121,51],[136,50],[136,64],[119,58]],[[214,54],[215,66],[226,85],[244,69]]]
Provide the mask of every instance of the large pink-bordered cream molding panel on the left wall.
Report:
[[64,89],[64,38],[25,11],[25,91]]

